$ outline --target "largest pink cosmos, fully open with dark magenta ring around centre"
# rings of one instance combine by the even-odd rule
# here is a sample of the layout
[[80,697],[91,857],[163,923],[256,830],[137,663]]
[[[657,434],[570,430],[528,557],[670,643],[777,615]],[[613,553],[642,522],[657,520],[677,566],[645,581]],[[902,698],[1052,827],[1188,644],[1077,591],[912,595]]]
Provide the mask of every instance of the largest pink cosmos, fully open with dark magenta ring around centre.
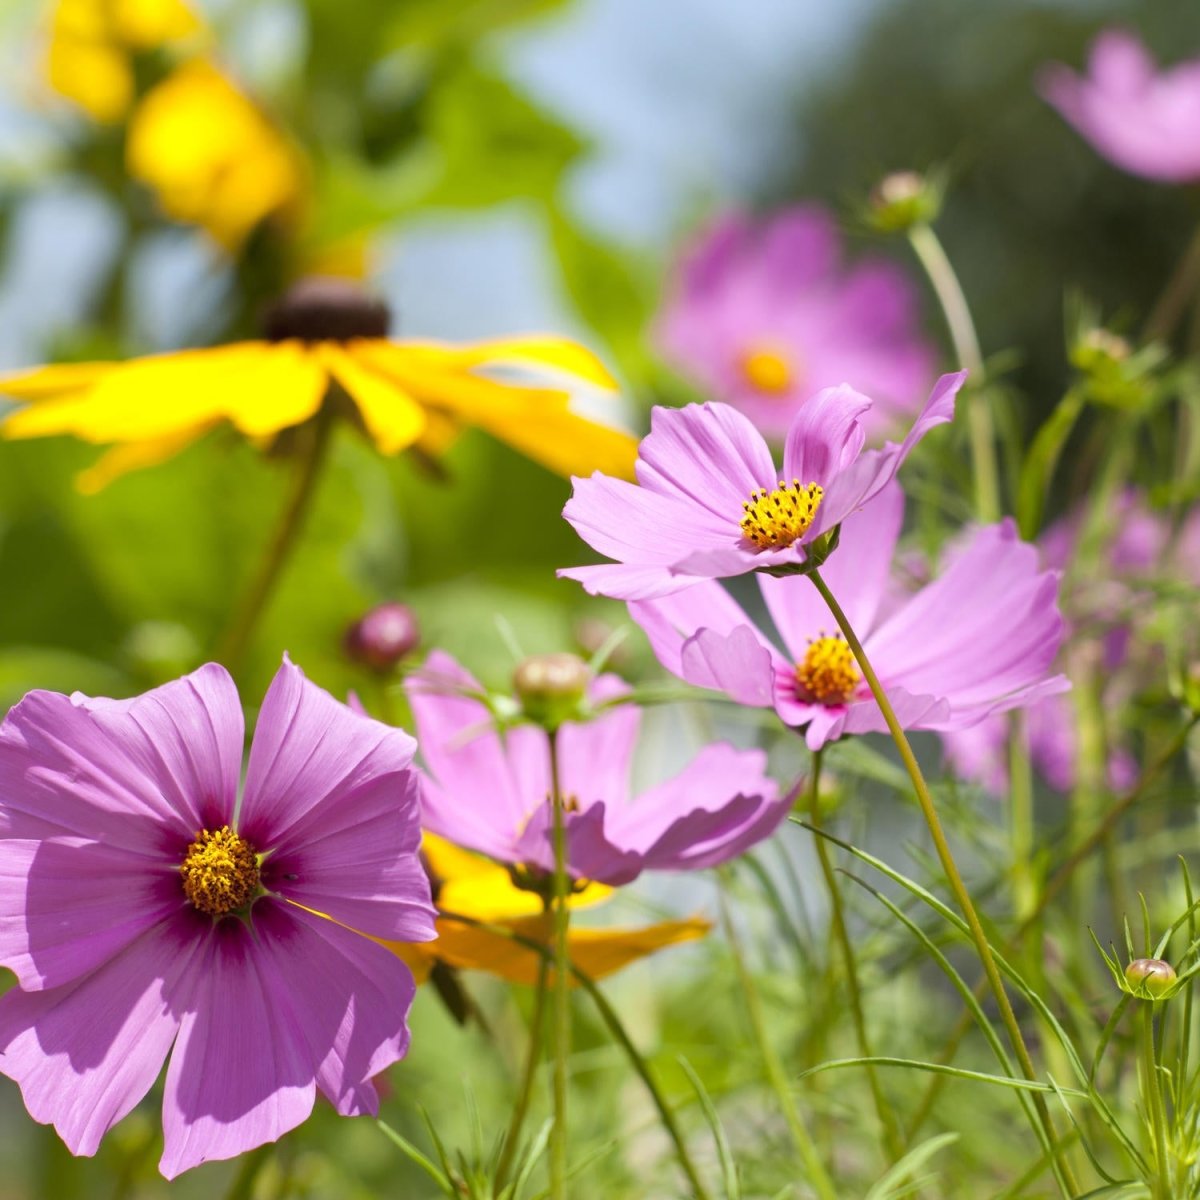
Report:
[[[434,936],[415,743],[284,660],[245,731],[223,667],[133,700],[30,692],[0,726],[0,1072],[77,1154],[170,1054],[163,1175],[374,1112]],[[332,919],[318,916],[328,913]],[[347,928],[350,926],[350,928]],[[174,1049],[172,1049],[174,1046]]]

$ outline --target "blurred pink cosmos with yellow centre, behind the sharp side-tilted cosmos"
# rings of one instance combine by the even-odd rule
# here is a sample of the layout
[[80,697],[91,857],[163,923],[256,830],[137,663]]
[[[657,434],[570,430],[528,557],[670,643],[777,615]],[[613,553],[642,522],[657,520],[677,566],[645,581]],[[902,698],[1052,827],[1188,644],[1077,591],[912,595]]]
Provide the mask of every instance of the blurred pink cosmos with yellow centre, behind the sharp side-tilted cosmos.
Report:
[[727,214],[680,264],[659,318],[666,356],[713,400],[782,437],[823,388],[853,379],[877,401],[876,437],[920,407],[935,353],[917,332],[917,295],[893,263],[841,265],[833,216],[784,210],[761,226]]

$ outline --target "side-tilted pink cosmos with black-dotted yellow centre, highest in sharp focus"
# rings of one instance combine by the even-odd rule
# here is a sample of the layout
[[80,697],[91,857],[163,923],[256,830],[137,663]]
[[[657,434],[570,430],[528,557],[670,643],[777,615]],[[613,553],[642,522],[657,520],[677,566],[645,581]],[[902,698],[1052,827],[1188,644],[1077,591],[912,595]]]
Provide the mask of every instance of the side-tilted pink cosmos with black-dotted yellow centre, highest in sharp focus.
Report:
[[563,509],[589,546],[617,562],[558,574],[594,595],[646,600],[702,578],[798,568],[814,539],[877,496],[912,448],[953,418],[964,379],[965,371],[942,376],[904,442],[865,452],[871,402],[845,384],[827,388],[792,421],[782,472],[737,409],[655,408],[637,484],[599,472],[575,479]]

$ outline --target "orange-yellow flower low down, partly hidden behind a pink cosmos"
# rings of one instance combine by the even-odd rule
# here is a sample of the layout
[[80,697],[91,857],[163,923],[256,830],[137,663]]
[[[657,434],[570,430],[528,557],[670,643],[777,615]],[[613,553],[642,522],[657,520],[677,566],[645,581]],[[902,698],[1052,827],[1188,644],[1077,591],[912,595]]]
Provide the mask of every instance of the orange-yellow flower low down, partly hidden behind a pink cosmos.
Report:
[[[418,980],[428,977],[434,964],[487,971],[511,983],[533,985],[538,980],[541,955],[521,946],[504,934],[455,920],[454,916],[469,917],[502,926],[532,941],[550,944],[552,925],[542,912],[541,900],[512,883],[505,868],[479,854],[431,834],[421,846],[434,878],[438,918],[438,940],[419,946],[385,942],[412,968]],[[607,899],[612,888],[589,883],[571,896],[572,908],[587,907]],[[593,979],[619,971],[637,959],[679,942],[691,942],[712,926],[706,920],[664,920],[642,929],[581,929],[570,930],[571,961]],[[553,971],[550,972],[553,980]],[[574,984],[574,980],[572,980]]]

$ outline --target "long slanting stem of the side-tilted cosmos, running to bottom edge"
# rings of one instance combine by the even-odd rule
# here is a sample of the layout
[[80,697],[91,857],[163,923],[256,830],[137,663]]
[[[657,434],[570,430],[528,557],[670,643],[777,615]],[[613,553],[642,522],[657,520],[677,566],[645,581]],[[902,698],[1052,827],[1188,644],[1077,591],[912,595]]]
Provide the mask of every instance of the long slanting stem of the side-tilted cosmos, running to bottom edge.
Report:
[[[991,994],[996,1000],[997,1007],[1000,1008],[1001,1020],[1004,1022],[1004,1028],[1008,1033],[1009,1042],[1013,1045],[1013,1051],[1016,1055],[1016,1061],[1020,1063],[1021,1072],[1025,1074],[1025,1078],[1037,1081],[1038,1075],[1033,1067],[1033,1060],[1030,1057],[1028,1046],[1026,1046],[1025,1038],[1021,1034],[1021,1026],[1018,1024],[1016,1014],[1013,1012],[1013,1004],[1008,998],[1008,992],[1004,990],[1004,982],[1001,978],[1000,968],[996,966],[991,947],[988,944],[988,935],[984,932],[978,912],[976,912],[974,902],[971,900],[971,893],[962,882],[958,863],[954,860],[954,854],[950,851],[949,842],[946,840],[946,834],[942,830],[942,822],[937,815],[937,809],[934,805],[934,798],[930,796],[929,785],[925,782],[925,776],[920,773],[920,767],[917,764],[917,757],[912,752],[908,738],[905,736],[899,720],[896,720],[896,714],[892,708],[892,702],[888,700],[888,695],[883,690],[878,676],[875,673],[875,668],[871,666],[866,653],[863,650],[863,643],[859,642],[858,635],[851,626],[845,612],[842,612],[841,605],[839,605],[836,599],[834,599],[833,593],[826,586],[826,582],[821,578],[818,571],[811,571],[809,574],[809,578],[812,581],[817,592],[821,593],[821,598],[829,606],[829,611],[833,613],[834,620],[838,622],[838,628],[846,638],[846,644],[850,647],[851,653],[854,655],[854,659],[863,672],[863,678],[866,680],[866,685],[871,689],[871,695],[875,697],[875,702],[880,706],[880,710],[883,713],[883,720],[887,722],[888,731],[892,733],[892,740],[895,742],[896,750],[900,752],[900,758],[905,764],[905,769],[908,772],[910,780],[912,780],[913,791],[917,796],[917,803],[920,805],[922,816],[924,816],[925,824],[929,827],[929,833],[934,840],[934,847],[937,851],[937,858],[942,864],[942,870],[946,872],[946,878],[950,884],[950,890],[954,893],[959,908],[966,918],[967,928],[971,930],[971,941],[974,943],[976,953],[979,955],[979,961],[983,964],[984,974],[988,977],[988,984],[991,989]],[[1063,1195],[1068,1198],[1073,1196],[1078,1192],[1078,1188],[1073,1178],[1070,1164],[1062,1157],[1062,1147],[1058,1144],[1058,1134],[1054,1127],[1054,1121],[1050,1118],[1050,1110],[1046,1106],[1045,1097],[1040,1092],[1034,1092],[1033,1104],[1037,1109],[1038,1121],[1042,1124],[1042,1133],[1045,1135],[1046,1145],[1054,1151],[1051,1168],[1054,1169],[1055,1178]]]

